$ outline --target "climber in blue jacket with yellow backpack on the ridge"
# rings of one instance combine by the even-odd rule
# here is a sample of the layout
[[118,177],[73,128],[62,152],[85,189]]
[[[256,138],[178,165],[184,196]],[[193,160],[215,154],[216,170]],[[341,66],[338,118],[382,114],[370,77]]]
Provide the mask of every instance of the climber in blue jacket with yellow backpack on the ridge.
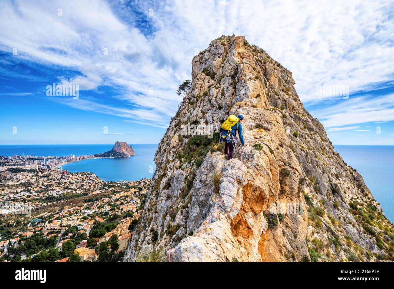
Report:
[[[240,114],[238,116],[229,116],[227,120],[223,123],[221,129],[220,129],[220,135],[221,139],[225,140],[225,147],[224,147],[224,155],[227,156],[227,160],[230,160],[234,157],[234,147],[235,147],[235,136],[238,131],[238,136],[240,138],[240,141],[242,145],[245,147],[247,144],[243,141],[243,136],[242,136],[242,124],[241,121],[243,120],[243,115]],[[227,128],[225,128],[226,125],[235,123],[231,127],[229,127],[229,131],[227,131]],[[230,133],[227,135],[227,133]]]

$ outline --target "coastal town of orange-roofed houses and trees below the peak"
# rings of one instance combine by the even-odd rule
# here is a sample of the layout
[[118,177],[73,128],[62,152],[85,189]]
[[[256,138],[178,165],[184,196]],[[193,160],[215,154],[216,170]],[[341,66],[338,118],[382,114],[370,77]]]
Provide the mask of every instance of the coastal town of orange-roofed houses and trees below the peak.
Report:
[[0,156],[0,261],[123,260],[151,180],[56,167],[89,157]]

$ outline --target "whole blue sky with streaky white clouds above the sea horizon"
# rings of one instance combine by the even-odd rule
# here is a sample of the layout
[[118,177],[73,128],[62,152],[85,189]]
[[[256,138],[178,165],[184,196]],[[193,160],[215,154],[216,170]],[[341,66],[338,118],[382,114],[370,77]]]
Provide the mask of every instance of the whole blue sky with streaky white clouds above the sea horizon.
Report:
[[243,3],[1,1],[0,144],[157,144],[193,56],[234,33],[293,72],[333,144],[394,145],[393,3]]

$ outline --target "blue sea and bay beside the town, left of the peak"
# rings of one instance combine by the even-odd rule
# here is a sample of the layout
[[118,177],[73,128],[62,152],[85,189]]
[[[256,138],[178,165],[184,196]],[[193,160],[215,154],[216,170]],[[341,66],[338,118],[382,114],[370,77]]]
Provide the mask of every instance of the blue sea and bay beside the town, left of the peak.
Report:
[[[94,155],[112,149],[113,145],[0,145],[0,155],[34,155],[34,156],[67,156]],[[127,158],[85,159],[65,164],[62,169],[68,171],[90,171],[105,181],[141,180],[153,177],[156,166],[153,158],[158,145],[132,145],[136,155]]]

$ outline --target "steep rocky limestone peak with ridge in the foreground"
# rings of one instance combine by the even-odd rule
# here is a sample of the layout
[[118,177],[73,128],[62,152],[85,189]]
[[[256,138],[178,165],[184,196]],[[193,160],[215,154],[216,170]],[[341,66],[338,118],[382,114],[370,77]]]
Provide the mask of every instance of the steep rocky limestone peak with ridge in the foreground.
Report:
[[[124,261],[394,260],[392,224],[304,109],[292,72],[223,35],[193,58],[191,77]],[[230,114],[245,117],[248,146],[237,137],[227,160],[217,139]]]

